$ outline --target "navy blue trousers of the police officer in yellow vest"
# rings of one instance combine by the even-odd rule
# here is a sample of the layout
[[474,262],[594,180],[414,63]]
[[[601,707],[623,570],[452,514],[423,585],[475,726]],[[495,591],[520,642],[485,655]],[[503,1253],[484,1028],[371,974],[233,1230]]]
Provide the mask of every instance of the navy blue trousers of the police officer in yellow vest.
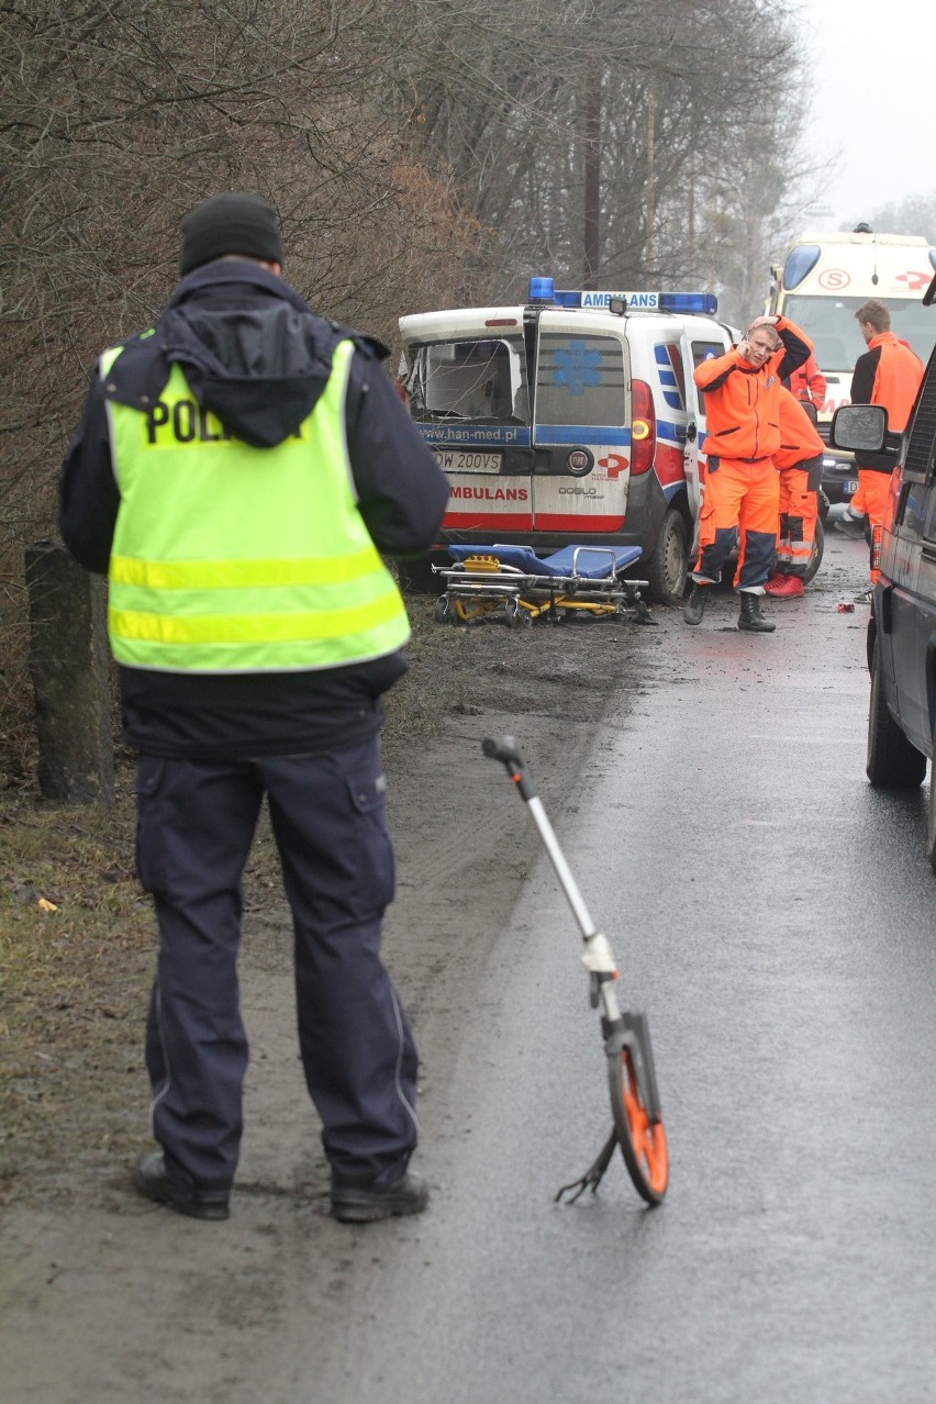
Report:
[[293,915],[306,1084],[333,1177],[404,1174],[417,1141],[417,1053],[380,959],[393,848],[377,740],[321,755],[201,762],[140,755],[138,868],[160,946],[146,1031],[153,1134],[185,1189],[230,1185],[247,1038],[241,875],[264,795]]

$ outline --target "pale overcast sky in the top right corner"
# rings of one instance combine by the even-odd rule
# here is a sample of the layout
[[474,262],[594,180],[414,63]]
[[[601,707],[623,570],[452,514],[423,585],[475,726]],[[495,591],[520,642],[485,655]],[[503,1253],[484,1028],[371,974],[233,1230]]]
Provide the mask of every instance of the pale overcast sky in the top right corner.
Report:
[[835,229],[877,205],[936,188],[929,7],[921,0],[811,0],[801,24],[815,65],[808,147],[820,157],[841,152],[818,201],[829,213],[814,223]]

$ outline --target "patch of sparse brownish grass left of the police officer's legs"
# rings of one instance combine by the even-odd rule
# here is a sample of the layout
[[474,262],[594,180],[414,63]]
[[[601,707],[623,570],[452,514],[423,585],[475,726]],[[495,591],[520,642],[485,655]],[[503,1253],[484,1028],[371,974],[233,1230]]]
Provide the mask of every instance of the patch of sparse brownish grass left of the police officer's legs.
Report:
[[0,1198],[139,1141],[154,941],[129,799],[0,804]]

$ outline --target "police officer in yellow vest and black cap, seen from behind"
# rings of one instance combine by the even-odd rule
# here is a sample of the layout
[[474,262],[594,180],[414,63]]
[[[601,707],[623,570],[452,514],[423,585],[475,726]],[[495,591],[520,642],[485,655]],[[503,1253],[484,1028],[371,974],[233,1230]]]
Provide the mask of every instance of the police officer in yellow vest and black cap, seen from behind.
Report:
[[403,600],[448,498],[380,366],[281,278],[275,211],[203,201],[152,333],[105,351],[60,483],[62,536],[109,578],[138,865],[159,959],[146,1029],[150,1199],[226,1219],[247,1040],[241,875],[264,796],[295,928],[302,1064],[331,1212],[418,1213],[417,1053],[380,959],[393,896],[379,730]]

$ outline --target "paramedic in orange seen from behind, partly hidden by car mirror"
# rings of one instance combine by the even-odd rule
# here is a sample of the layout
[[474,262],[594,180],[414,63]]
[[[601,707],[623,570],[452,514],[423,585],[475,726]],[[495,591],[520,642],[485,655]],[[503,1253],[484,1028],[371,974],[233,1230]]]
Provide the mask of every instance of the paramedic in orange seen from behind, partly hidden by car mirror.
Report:
[[[855,362],[852,373],[852,404],[883,404],[887,427],[900,432],[907,428],[909,411],[923,379],[923,364],[905,341],[891,331],[890,309],[870,298],[855,313],[867,351]],[[848,504],[838,529],[846,536],[863,536],[864,528],[878,526],[887,515],[892,459],[880,453],[856,453],[857,493]],[[871,583],[877,571],[871,571]],[[856,600],[870,600],[856,595]]]

